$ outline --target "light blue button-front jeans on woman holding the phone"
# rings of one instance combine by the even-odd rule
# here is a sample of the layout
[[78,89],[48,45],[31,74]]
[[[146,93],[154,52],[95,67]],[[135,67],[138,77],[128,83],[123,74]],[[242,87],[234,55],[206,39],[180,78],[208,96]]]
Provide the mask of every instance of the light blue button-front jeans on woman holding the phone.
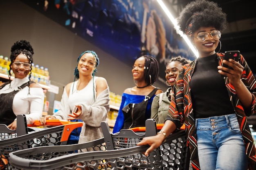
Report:
[[201,170],[246,170],[245,145],[236,114],[195,119]]

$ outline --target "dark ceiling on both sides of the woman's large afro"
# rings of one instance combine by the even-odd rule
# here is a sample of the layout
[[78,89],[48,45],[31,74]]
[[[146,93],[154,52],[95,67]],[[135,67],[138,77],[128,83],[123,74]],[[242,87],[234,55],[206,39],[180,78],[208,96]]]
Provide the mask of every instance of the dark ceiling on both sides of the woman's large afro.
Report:
[[[212,0],[217,2],[227,14],[229,26],[222,33],[221,52],[239,50],[245,60],[256,74],[256,0]],[[191,0],[165,0],[168,8],[175,11],[178,16],[180,11]]]

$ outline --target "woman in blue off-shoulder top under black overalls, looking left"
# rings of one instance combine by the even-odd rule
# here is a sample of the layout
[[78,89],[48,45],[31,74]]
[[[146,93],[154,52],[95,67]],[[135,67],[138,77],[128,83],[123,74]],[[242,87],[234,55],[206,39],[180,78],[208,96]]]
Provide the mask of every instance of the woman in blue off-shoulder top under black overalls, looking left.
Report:
[[[153,86],[157,80],[158,73],[159,65],[154,57],[143,55],[135,60],[132,75],[134,81],[137,83],[135,83],[136,86],[124,90],[113,133],[119,132],[121,129],[145,126],[146,119],[150,119],[153,97],[163,92],[161,89]],[[148,104],[145,109],[141,108],[141,110],[137,111],[139,114],[134,114],[133,117],[131,117],[131,115],[123,112],[125,106],[130,103],[140,103],[146,99],[150,92],[154,93],[153,97],[148,99]],[[131,121],[132,119],[134,121]]]

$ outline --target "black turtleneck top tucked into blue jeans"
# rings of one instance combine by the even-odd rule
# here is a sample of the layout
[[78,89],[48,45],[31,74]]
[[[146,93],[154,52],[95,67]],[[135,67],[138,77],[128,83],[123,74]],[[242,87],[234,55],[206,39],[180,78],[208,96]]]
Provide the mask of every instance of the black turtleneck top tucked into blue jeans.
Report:
[[235,113],[217,66],[217,54],[198,58],[190,82],[195,118]]

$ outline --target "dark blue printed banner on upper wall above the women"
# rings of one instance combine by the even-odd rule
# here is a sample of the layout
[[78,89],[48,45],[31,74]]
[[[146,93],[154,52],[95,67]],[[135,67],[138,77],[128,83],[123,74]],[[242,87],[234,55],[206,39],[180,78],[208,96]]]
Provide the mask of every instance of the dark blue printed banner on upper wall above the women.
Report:
[[155,57],[162,82],[172,57],[194,60],[156,0],[21,1],[126,64],[141,55]]

